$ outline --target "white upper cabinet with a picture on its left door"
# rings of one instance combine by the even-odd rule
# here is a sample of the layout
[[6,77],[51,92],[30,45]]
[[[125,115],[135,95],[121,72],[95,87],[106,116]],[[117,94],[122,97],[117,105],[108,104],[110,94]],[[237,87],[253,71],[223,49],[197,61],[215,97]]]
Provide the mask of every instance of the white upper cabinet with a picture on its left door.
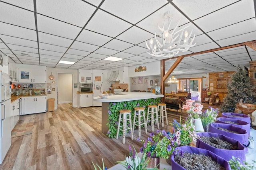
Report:
[[46,83],[46,66],[17,64],[18,82]]

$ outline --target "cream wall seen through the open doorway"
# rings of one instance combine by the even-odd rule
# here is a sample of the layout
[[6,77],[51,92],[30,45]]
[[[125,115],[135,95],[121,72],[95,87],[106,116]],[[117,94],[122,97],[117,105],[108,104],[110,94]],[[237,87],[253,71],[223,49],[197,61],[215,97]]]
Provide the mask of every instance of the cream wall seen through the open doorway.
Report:
[[[73,74],[58,73],[58,103],[72,102]],[[57,90],[57,89],[56,89]]]

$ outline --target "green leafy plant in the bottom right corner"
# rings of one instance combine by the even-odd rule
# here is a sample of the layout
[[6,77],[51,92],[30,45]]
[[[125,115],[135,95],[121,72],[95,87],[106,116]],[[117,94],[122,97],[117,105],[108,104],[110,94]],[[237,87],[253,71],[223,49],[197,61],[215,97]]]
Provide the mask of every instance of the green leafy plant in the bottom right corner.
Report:
[[[232,170],[256,170],[256,167],[252,166],[248,162],[244,162],[244,165],[240,164],[239,160],[239,158],[235,158],[234,156],[232,156],[232,159],[228,161]],[[255,160],[253,160],[252,164],[254,163],[256,163]]]

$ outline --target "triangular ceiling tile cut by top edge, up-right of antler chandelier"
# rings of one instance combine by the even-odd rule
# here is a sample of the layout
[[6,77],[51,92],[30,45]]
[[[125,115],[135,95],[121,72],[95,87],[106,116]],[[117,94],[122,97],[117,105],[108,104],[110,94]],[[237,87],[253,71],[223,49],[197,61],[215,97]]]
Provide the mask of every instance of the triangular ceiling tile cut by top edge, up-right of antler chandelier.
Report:
[[[223,8],[237,0],[197,0],[197,1],[181,1],[173,0],[172,2],[180,8],[191,20],[195,20],[199,17],[214,12],[220,8]],[[198,5],[200,4],[200,5]],[[196,11],[196,12],[195,12]]]

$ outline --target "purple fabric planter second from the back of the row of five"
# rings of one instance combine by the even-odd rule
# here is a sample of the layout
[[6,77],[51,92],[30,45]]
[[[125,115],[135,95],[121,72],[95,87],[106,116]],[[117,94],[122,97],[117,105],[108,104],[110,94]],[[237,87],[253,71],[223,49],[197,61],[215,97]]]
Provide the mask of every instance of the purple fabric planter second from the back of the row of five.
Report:
[[[225,121],[232,121],[232,122],[238,123],[238,124],[227,123]],[[238,119],[226,118],[226,117],[218,117],[217,121],[215,123],[226,123],[226,124],[230,124],[230,125],[233,125],[236,127],[240,127],[241,129],[245,129],[246,132],[248,133],[248,136],[250,136],[250,130],[251,130],[250,124],[245,121],[241,121]]]

